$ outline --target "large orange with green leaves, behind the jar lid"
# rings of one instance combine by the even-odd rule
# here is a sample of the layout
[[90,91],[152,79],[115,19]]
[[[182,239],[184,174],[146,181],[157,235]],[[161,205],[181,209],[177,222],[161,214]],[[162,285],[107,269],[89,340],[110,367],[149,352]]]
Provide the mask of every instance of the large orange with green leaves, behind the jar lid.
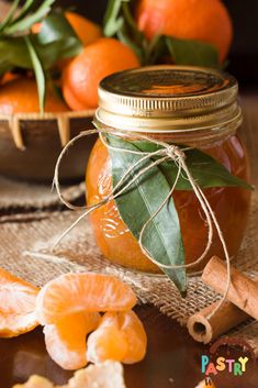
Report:
[[104,33],[126,42],[144,65],[220,67],[233,25],[221,0],[110,0]]

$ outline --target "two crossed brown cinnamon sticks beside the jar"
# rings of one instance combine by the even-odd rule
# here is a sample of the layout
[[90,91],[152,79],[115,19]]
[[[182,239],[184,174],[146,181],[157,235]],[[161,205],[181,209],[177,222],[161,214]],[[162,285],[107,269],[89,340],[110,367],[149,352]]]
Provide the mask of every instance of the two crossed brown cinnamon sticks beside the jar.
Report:
[[[227,295],[228,301],[207,320],[206,317],[214,311],[218,302],[190,317],[188,330],[198,341],[209,343],[221,334],[227,332],[239,323],[254,317],[258,319],[258,278],[248,279],[235,268],[231,268],[232,284]],[[202,280],[218,293],[224,293],[226,287],[226,265],[218,257],[212,257],[204,268]]]

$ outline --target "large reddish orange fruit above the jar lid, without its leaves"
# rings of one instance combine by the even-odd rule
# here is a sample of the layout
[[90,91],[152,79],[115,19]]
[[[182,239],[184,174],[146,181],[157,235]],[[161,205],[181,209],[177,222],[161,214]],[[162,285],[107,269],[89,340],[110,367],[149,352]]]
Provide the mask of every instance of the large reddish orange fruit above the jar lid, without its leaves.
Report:
[[148,40],[165,34],[213,44],[221,63],[232,43],[232,20],[221,0],[139,0],[136,20]]

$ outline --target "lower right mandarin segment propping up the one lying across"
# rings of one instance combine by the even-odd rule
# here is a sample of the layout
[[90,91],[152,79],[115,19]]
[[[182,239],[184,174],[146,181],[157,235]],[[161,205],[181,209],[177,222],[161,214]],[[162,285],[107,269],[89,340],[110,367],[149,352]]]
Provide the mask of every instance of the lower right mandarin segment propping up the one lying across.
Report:
[[133,364],[146,353],[147,337],[144,326],[133,311],[106,312],[88,339],[88,359],[101,363],[106,359]]

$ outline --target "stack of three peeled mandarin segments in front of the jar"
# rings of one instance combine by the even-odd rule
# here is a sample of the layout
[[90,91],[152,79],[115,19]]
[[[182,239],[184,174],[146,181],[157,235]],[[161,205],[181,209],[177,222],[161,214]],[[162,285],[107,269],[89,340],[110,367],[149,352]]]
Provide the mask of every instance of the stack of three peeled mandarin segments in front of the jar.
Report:
[[135,303],[133,290],[113,276],[66,274],[49,281],[36,300],[48,354],[64,369],[106,359],[139,362],[147,339],[132,311]]

